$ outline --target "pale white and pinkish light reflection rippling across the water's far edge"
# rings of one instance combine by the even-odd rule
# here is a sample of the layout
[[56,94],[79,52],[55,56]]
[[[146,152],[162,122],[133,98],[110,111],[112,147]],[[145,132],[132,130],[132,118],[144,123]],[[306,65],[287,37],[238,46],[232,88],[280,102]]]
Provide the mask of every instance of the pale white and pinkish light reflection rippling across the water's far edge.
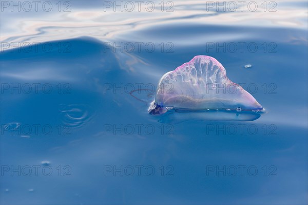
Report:
[[[53,9],[49,12],[44,11],[43,7],[38,7],[37,11],[33,9],[31,10],[33,12],[28,12],[27,15],[23,15],[25,12],[11,12],[14,9],[9,5],[8,8],[3,9],[2,22],[6,23],[2,24],[0,40],[34,43],[92,36],[104,41],[114,39],[119,34],[126,35],[134,30],[177,23],[246,26],[246,29],[252,25],[269,28],[305,29],[307,27],[305,2],[292,4],[292,12],[288,2],[254,4],[258,4],[256,9],[248,3],[237,3],[234,8],[231,7],[232,5],[220,3],[222,7],[217,8],[216,5],[206,1],[170,1],[169,4],[165,2],[164,7],[160,2],[155,2],[128,9],[124,4],[121,8],[115,4],[109,6],[103,1],[73,1],[70,5],[65,5],[69,6],[67,10],[64,8],[60,10],[59,5],[54,3]],[[19,26],[13,26],[14,22],[18,22]],[[228,38],[233,35],[233,33],[227,34],[221,37]],[[236,33],[236,36],[238,37],[239,34]],[[184,36],[174,37],[176,41]]]

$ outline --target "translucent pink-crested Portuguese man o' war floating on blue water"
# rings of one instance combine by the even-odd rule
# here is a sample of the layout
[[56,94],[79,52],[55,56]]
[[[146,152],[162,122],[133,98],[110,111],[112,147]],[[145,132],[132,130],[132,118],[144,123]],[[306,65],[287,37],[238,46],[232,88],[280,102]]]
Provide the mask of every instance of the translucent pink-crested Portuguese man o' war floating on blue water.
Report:
[[179,113],[184,118],[249,121],[264,111],[256,99],[226,76],[214,58],[198,55],[161,78],[150,115]]

